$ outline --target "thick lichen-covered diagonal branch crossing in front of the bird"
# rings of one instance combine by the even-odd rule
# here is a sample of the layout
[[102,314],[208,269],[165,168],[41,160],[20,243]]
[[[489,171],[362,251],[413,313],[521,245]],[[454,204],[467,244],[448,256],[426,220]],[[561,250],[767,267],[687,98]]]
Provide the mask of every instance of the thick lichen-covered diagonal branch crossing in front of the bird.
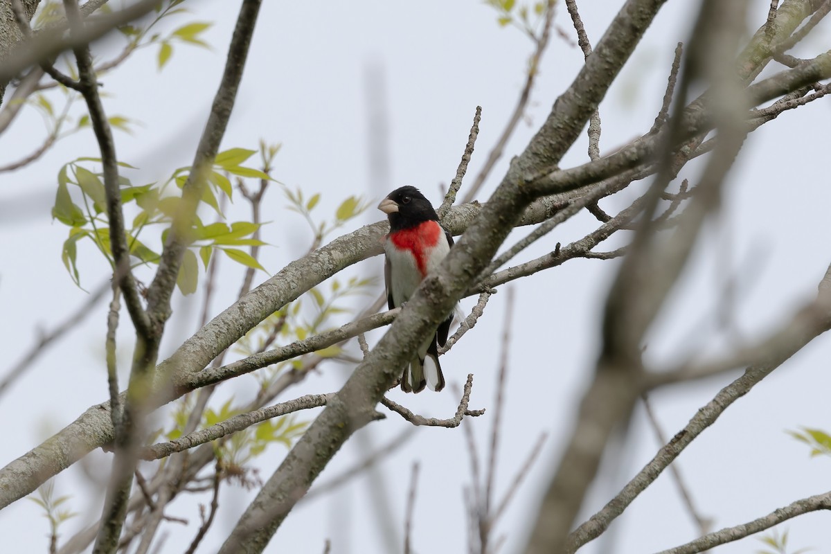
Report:
[[327,404],[307,433],[273,474],[238,522],[219,552],[262,552],[273,533],[302,497],[329,459],[348,437],[375,419],[375,406],[398,377],[416,346],[446,317],[455,302],[504,241],[524,208],[534,200],[526,194],[523,174],[543,164],[556,164],[577,139],[588,117],[597,109],[612,78],[631,55],[663,2],[632,0],[612,22],[595,55],[569,90],[554,105],[546,125],[528,149],[514,159],[509,173],[479,218],[450,250],[437,273],[421,283],[401,315]]

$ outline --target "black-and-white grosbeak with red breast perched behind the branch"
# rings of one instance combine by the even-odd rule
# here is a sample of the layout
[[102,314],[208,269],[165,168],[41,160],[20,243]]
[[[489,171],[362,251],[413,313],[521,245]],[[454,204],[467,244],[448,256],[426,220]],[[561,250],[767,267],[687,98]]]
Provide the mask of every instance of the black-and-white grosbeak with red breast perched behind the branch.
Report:
[[[453,246],[453,237],[441,227],[430,201],[416,187],[393,190],[378,209],[390,220],[384,244],[384,280],[386,303],[392,309],[410,300],[421,280],[439,266]],[[420,392],[425,385],[435,391],[445,388],[437,345],[445,346],[451,321],[452,314],[419,346],[417,357],[404,368],[401,390]]]

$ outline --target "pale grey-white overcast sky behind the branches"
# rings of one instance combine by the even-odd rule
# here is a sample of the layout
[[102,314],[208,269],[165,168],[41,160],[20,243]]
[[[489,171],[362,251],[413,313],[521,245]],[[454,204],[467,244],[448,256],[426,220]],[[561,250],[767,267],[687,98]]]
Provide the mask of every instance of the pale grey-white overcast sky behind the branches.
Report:
[[[619,3],[580,3],[593,44],[599,41]],[[652,125],[673,49],[676,42],[686,40],[693,21],[694,3],[668,2],[612,86],[601,105],[602,153],[611,152]],[[769,5],[761,0],[752,3],[751,31],[764,21]],[[108,115],[127,115],[140,121],[133,135],[116,131],[120,159],[140,167],[140,172],[129,175],[134,184],[165,179],[177,167],[191,163],[224,66],[238,2],[185,5],[191,14],[171,17],[167,27],[161,28],[170,31],[194,20],[214,22],[204,36],[213,51],[176,46],[169,65],[159,72],[156,47],[151,47],[135,53],[103,79],[103,90],[111,95],[105,99]],[[254,149],[260,138],[282,142],[273,174],[293,188],[302,187],[307,196],[321,192],[321,205],[315,210],[318,217],[334,213],[349,194],[361,194],[374,206],[402,184],[415,184],[438,204],[440,184],[450,183],[455,174],[475,106],[482,106],[483,115],[466,179],[469,185],[497,140],[524,81],[533,45],[519,31],[498,27],[496,17],[482,2],[264,2],[223,149]],[[573,41],[571,22],[562,4],[555,22]],[[827,22],[813,37],[804,44],[805,56],[828,49]],[[109,44],[120,46],[120,39],[101,46]],[[510,155],[518,154],[528,143],[582,63],[578,47],[556,35],[552,38],[528,113],[530,124],[519,126],[506,157],[479,199],[487,199],[504,174]],[[391,174],[390,183],[381,190],[370,189],[368,184],[366,75],[372,66],[383,71],[386,94],[381,97],[388,110],[386,148]],[[10,95],[8,91],[7,98]],[[724,302],[720,291],[726,277],[737,280],[739,294],[730,313],[748,341],[770,331],[799,302],[814,296],[816,283],[829,263],[823,223],[831,193],[823,169],[828,154],[822,138],[828,125],[829,104],[817,101],[750,135],[730,174],[722,215],[706,231],[692,271],[676,287],[670,308],[652,333],[647,360],[656,367],[717,343],[715,313]],[[29,110],[0,136],[0,161],[28,154],[43,136],[39,116]],[[583,137],[563,166],[586,161],[586,144]],[[36,340],[37,328],[51,329],[86,300],[86,293],[73,285],[61,264],[61,243],[67,229],[52,222],[50,215],[58,169],[85,155],[97,155],[89,130],[63,140],[27,169],[0,174],[0,346],[7,365]],[[696,167],[691,165],[685,172],[691,183],[695,183]],[[614,212],[640,194],[643,186],[634,184],[621,194],[622,199],[606,200],[602,206]],[[275,185],[263,206],[263,218],[273,222],[263,228],[263,238],[274,246],[264,248],[260,258],[272,273],[305,251],[311,240],[302,218],[285,206]],[[228,210],[229,219],[248,218],[245,208],[246,203],[237,201]],[[370,208],[337,234],[380,219],[381,213]],[[581,213],[530,248],[522,259],[548,252],[554,243],[568,243],[596,227],[593,216]],[[521,229],[511,238],[527,232]],[[598,250],[616,248],[619,241],[602,244]],[[91,244],[79,248],[78,262],[88,290],[104,281],[106,266]],[[577,260],[514,285],[517,305],[500,437],[498,498],[524,463],[538,434],[548,432],[548,440],[543,456],[494,533],[495,537],[507,537],[501,552],[518,552],[534,522],[536,502],[556,467],[558,448],[568,437],[574,409],[593,368],[598,316],[615,267],[614,262]],[[242,270],[227,258],[222,260],[220,272],[214,314],[234,300],[242,276]],[[380,274],[380,257],[344,273],[360,277]],[[265,278],[260,272],[256,282]],[[475,374],[471,407],[490,409],[484,417],[468,422],[482,452],[493,423],[499,340],[508,296],[504,292],[507,287],[493,297],[475,330],[442,360],[451,385],[461,385],[468,372]],[[195,331],[201,297],[201,289],[184,300],[177,292],[177,311],[167,327],[163,355]],[[358,308],[362,302],[364,299],[358,298],[353,306]],[[470,301],[464,305],[469,308]],[[106,399],[105,314],[102,303],[0,399],[0,420],[14,422],[6,426],[0,463],[17,458],[91,404]],[[129,318],[122,311],[122,385],[132,347],[129,327]],[[377,332],[371,335],[371,344],[378,336]],[[357,351],[354,341],[350,347]],[[784,433],[802,425],[831,429],[829,349],[827,338],[814,341],[728,409],[679,458],[697,506],[702,514],[714,518],[715,529],[829,489],[827,458],[809,459],[808,449]],[[352,367],[345,365],[323,364],[320,375],[310,376],[281,400],[337,390],[350,370]],[[653,395],[666,434],[681,429],[696,409],[736,375]],[[425,392],[418,396],[394,391],[391,398],[420,414],[449,417],[458,401],[451,389],[440,395]],[[243,377],[220,387],[214,400],[219,404],[232,394],[246,400],[252,390],[253,378]],[[301,417],[311,418],[312,414]],[[396,414],[371,424],[361,431],[366,440],[349,441],[317,483],[351,467],[361,458],[366,444],[385,444],[409,425]],[[626,448],[610,450],[604,463],[606,473],[588,498],[583,515],[588,517],[617,493],[657,448],[638,409]],[[470,484],[466,450],[461,429],[419,429],[406,447],[381,464],[382,484],[365,475],[335,495],[298,506],[267,552],[322,552],[327,537],[332,539],[332,552],[388,552],[371,507],[371,488],[388,493],[400,549],[413,460],[420,462],[413,523],[416,552],[465,552],[462,488]],[[284,454],[285,450],[275,445],[256,459],[263,479]],[[103,486],[98,487],[96,496],[91,495],[92,487],[82,468],[101,478],[109,471],[109,460],[109,455],[98,450],[57,478],[57,493],[70,495],[69,506],[81,514],[61,527],[63,538],[100,516]],[[253,494],[223,487],[219,517],[199,552],[214,552],[219,547]],[[185,530],[166,523],[163,533],[170,532],[170,536],[162,552],[182,552],[194,537],[199,522],[196,501],[207,503],[209,498],[188,495],[170,505],[168,514],[194,524]],[[812,514],[786,523],[791,547],[814,547],[819,552],[831,547],[823,517]],[[20,501],[0,512],[4,552],[46,552],[47,532],[47,522],[34,503]],[[653,552],[696,537],[668,474],[632,504],[610,533],[605,542],[600,539],[581,552]],[[759,547],[761,543],[751,538],[720,547],[718,552],[753,552]]]

